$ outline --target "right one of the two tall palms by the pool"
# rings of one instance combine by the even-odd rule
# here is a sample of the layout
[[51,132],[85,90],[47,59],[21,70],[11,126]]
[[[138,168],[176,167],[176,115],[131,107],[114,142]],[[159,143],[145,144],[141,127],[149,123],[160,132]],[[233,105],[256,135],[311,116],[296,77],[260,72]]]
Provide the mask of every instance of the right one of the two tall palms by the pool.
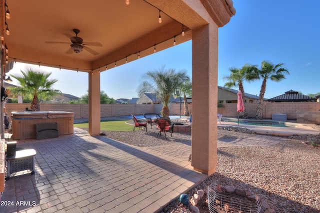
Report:
[[258,105],[256,106],[256,113],[255,113],[255,118],[256,119],[262,119],[263,118],[263,97],[264,97],[264,92],[266,88],[266,80],[270,79],[273,81],[280,81],[283,78],[285,78],[285,74],[289,74],[289,71],[286,68],[282,68],[284,63],[278,63],[278,64],[273,64],[269,61],[263,60],[261,62],[261,69],[256,69],[255,70],[255,75],[259,78],[262,79],[262,84],[261,84],[261,89],[260,89],[260,94],[259,94],[259,101]]

